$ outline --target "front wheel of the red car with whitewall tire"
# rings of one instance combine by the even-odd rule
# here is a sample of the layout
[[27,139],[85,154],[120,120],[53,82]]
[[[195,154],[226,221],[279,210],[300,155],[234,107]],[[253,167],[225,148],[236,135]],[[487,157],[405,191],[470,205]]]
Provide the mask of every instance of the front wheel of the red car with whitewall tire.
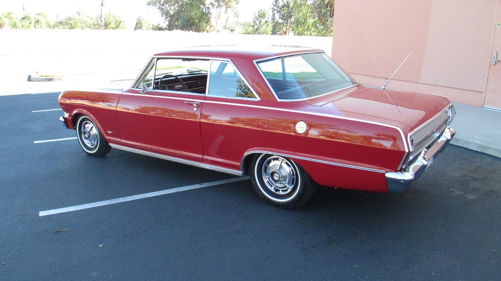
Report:
[[77,138],[82,149],[89,155],[100,157],[108,154],[111,150],[111,146],[96,124],[86,115],[78,118]]

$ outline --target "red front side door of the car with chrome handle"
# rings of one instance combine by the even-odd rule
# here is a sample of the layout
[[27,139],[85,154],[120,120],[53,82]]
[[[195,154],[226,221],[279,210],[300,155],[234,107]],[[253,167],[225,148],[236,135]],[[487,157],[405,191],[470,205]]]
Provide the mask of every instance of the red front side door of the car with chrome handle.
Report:
[[[159,70],[158,66],[158,61],[153,59],[144,78],[136,85],[139,87],[142,82],[146,82],[149,87],[147,92],[131,88],[123,92],[118,101],[121,143],[201,161],[203,152],[199,122],[205,96],[203,93],[180,91],[178,83],[160,86],[159,80],[164,76],[165,69]],[[196,75],[200,76],[200,73]],[[171,79],[171,76],[169,74],[162,82]]]

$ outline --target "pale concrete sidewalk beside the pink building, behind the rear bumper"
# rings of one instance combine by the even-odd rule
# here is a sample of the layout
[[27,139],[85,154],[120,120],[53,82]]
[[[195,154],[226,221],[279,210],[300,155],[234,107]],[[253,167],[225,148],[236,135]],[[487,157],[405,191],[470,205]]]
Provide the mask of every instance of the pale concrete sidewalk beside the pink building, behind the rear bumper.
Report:
[[501,111],[453,102],[457,130],[451,144],[501,157]]

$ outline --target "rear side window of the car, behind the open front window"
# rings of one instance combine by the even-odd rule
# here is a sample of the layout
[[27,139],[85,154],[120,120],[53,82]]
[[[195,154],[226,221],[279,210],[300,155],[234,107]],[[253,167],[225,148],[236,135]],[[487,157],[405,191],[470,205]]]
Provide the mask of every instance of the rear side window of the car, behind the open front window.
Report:
[[228,61],[211,60],[208,95],[257,98]]

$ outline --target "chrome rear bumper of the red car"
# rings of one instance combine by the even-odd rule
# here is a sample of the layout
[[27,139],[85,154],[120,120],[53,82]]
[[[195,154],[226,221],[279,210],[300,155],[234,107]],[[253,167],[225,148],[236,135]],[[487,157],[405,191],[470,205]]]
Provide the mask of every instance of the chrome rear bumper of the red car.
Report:
[[410,183],[421,176],[429,164],[433,162],[433,158],[445,149],[445,146],[449,144],[454,134],[456,134],[456,130],[447,126],[442,135],[440,135],[428,148],[423,149],[421,154],[419,154],[404,171],[391,171],[385,173],[386,180],[388,181],[388,191],[405,191]]

